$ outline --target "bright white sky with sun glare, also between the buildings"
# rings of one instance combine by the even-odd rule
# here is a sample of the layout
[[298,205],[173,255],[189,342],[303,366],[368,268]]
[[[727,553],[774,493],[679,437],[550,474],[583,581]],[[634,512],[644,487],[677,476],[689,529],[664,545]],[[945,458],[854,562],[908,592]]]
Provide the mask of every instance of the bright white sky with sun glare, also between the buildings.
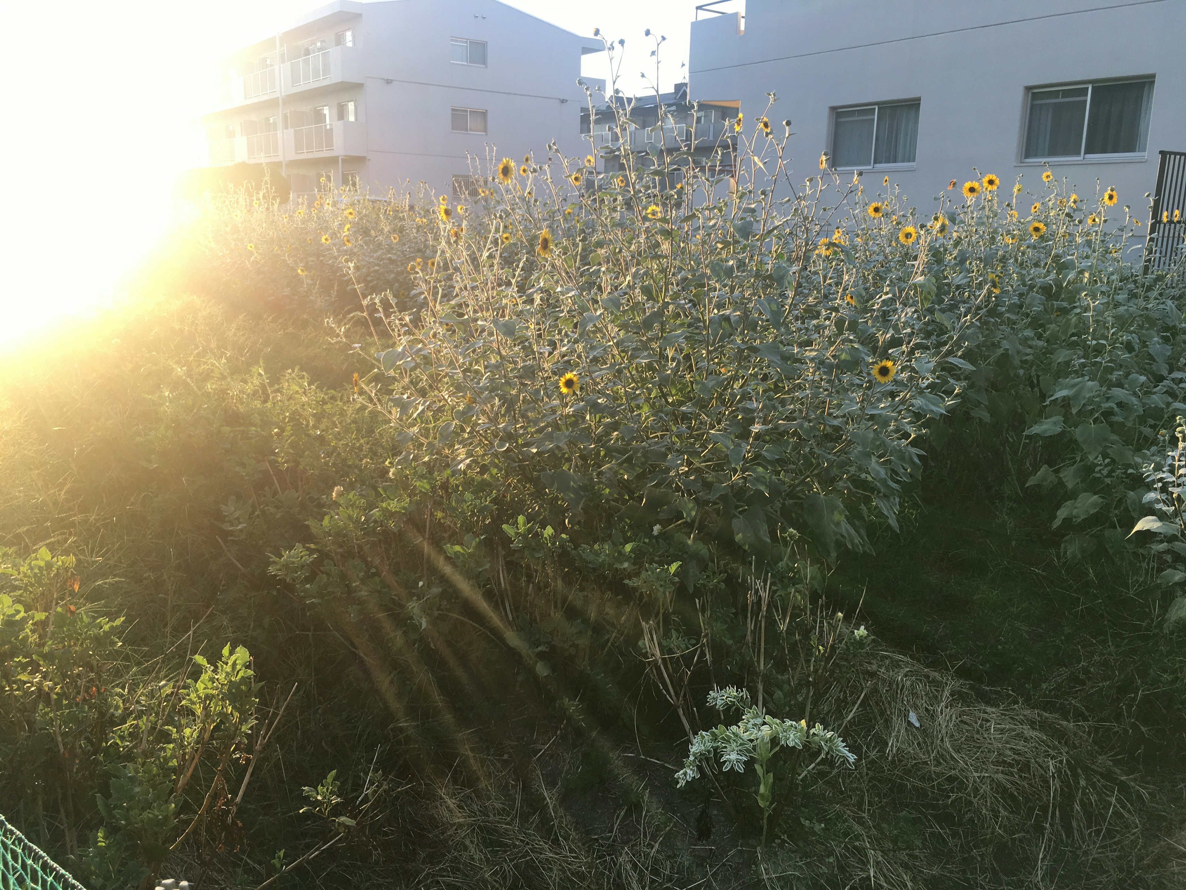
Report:
[[[689,23],[703,0],[511,0],[524,12],[626,42],[621,89],[646,91],[653,42],[665,36],[659,85],[682,80]],[[217,90],[217,63],[274,33],[317,0],[59,0],[6,4],[14,120],[0,140],[0,351],[85,319],[168,230],[177,174],[205,163],[199,116]],[[731,0],[722,9],[744,9]],[[703,13],[701,13],[703,14]],[[38,39],[42,38],[42,39]],[[15,58],[12,58],[13,53]],[[582,74],[606,77],[604,53]],[[15,72],[20,72],[15,75]]]

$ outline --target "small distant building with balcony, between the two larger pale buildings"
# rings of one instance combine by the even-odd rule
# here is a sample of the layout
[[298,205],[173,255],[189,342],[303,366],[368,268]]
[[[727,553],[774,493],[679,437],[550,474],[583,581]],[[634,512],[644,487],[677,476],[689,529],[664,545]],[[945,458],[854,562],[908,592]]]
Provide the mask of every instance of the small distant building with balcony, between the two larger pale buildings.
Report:
[[[627,110],[632,122],[621,129],[619,117],[625,119]],[[646,159],[650,150],[667,148],[669,152],[691,150],[697,165],[714,164],[720,172],[731,173],[737,115],[738,102],[694,106],[688,101],[688,84],[677,83],[671,93],[635,98],[613,96],[594,106],[592,114],[586,106],[581,109],[581,133],[586,138],[592,134],[593,147],[601,159],[599,165],[605,172],[620,169],[624,151],[639,155],[643,166],[649,166],[652,163]]]

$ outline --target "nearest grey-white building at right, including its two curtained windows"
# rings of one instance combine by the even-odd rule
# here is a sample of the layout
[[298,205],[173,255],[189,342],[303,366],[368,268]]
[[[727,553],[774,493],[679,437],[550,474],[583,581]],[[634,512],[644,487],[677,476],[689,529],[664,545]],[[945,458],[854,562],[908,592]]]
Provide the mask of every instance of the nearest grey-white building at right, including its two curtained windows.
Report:
[[801,178],[827,152],[925,210],[974,167],[1035,189],[1048,165],[1142,218],[1186,151],[1184,37],[1186,0],[748,0],[693,23],[690,95],[748,120],[776,93]]

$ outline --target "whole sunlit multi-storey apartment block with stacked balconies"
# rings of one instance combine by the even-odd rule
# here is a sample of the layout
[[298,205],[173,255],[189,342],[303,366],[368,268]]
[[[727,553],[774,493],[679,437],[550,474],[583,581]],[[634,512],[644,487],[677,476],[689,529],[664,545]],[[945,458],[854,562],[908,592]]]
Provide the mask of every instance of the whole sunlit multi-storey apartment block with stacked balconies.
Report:
[[588,152],[576,81],[601,50],[497,0],[337,0],[227,61],[210,164],[279,166],[305,195],[467,195],[472,155]]

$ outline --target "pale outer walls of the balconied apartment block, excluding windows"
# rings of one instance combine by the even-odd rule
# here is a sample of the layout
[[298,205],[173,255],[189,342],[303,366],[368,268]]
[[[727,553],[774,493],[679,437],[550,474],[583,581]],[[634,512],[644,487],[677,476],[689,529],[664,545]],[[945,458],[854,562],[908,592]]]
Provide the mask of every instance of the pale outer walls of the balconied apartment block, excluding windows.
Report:
[[[289,83],[288,64],[304,42],[324,37],[332,47],[334,34],[346,27],[353,46],[331,52],[332,78],[300,88]],[[486,64],[454,63],[451,38],[484,42]],[[415,189],[420,182],[447,192],[453,176],[468,174],[474,160],[484,167],[493,155],[546,155],[553,140],[565,154],[584,157],[588,151],[580,136],[585,91],[576,81],[582,52],[600,50],[600,44],[497,0],[339,0],[281,33],[280,43],[287,47],[282,103],[292,126],[317,106],[329,106],[333,120],[337,103],[352,100],[362,125],[355,129],[365,133],[358,155],[343,155],[342,146],[313,158],[286,153],[298,191],[304,177],[336,171],[339,163],[372,192],[403,184]],[[281,100],[275,94],[251,102],[238,85],[251,62],[274,56],[275,46],[275,39],[262,40],[228,62],[236,85],[229,91],[231,106],[206,115],[212,161],[231,160],[229,147],[213,145],[228,125],[244,138],[255,126],[251,121],[278,113]],[[486,132],[454,132],[453,108],[485,112]]]

